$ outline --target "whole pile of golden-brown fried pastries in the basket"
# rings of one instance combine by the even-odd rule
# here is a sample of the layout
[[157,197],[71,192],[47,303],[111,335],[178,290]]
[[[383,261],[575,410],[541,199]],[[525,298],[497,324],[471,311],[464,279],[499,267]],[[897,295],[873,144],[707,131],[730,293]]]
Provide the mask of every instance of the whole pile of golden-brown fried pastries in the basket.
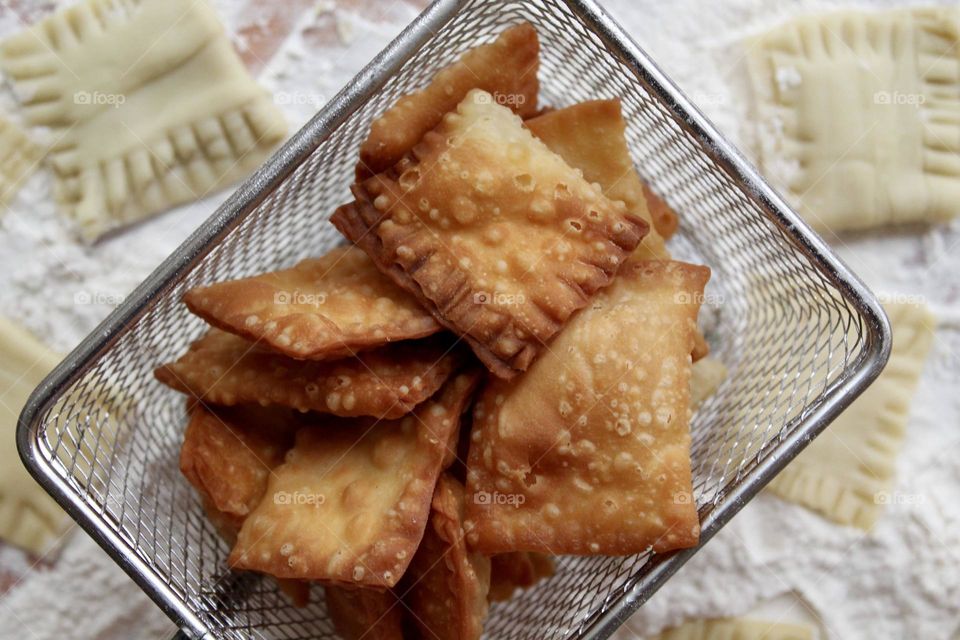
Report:
[[388,109],[350,244],[189,291],[211,326],[156,370],[230,566],[322,584],[346,638],[478,638],[551,556],[698,541],[710,271],[670,258],[619,101],[542,110],[538,56],[518,25]]

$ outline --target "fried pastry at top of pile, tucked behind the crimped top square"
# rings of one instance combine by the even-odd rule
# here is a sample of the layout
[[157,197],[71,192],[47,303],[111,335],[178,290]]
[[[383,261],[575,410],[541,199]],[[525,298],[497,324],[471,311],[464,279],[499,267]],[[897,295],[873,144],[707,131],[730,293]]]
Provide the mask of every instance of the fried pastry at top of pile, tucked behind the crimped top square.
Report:
[[521,117],[537,111],[540,42],[528,23],[504,31],[492,43],[467,51],[441,70],[430,84],[408,96],[373,121],[360,147],[357,177],[386,171],[440,124],[471,89],[483,89]]

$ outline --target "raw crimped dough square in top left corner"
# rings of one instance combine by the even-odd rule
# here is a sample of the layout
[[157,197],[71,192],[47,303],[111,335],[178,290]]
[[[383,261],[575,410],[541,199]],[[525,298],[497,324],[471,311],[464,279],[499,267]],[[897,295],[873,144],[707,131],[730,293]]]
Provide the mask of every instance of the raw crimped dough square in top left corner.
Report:
[[53,129],[57,201],[87,240],[244,178],[286,132],[205,1],[83,0],[0,65]]

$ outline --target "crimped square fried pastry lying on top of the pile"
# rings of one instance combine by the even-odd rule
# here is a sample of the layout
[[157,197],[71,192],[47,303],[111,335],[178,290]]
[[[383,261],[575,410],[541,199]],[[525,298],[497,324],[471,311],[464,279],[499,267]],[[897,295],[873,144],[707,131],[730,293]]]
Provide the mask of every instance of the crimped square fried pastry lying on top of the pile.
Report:
[[524,371],[648,225],[475,90],[333,222],[497,376]]

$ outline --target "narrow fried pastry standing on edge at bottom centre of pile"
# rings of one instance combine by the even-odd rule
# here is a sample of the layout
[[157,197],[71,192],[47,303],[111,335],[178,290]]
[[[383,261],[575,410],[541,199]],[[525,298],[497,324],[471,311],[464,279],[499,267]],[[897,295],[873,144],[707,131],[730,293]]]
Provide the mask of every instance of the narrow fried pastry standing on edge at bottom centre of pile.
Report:
[[463,485],[440,476],[420,548],[410,563],[404,601],[423,638],[477,640],[487,617],[490,558],[467,549]]

